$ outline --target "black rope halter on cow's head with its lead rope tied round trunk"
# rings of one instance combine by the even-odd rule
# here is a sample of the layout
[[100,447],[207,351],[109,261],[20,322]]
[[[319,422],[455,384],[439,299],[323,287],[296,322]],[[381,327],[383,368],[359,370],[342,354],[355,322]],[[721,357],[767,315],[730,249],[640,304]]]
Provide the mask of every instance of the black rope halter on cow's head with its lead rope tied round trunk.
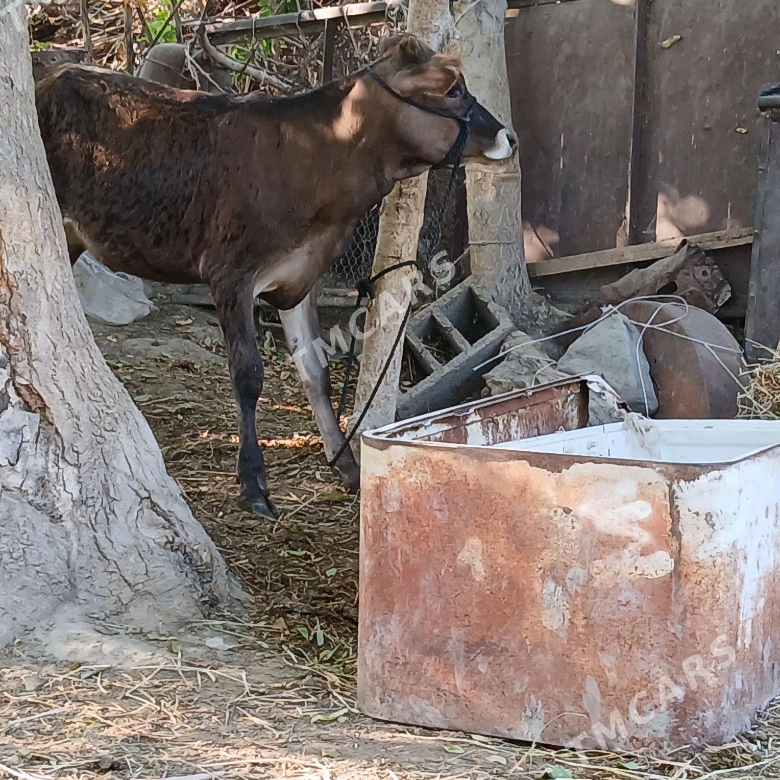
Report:
[[[447,152],[446,157],[441,162],[438,162],[436,165],[431,166],[431,168],[434,171],[437,171],[439,168],[446,168],[448,165],[452,165],[452,175],[449,177],[449,183],[447,185],[445,197],[444,200],[442,200],[441,202],[441,208],[439,209],[438,215],[436,215],[436,218],[434,220],[436,233],[434,234],[435,240],[433,243],[434,246],[436,246],[439,243],[439,240],[441,239],[441,228],[442,228],[442,221],[445,215],[445,210],[447,208],[447,204],[449,203],[449,199],[452,196],[452,191],[455,189],[455,184],[458,179],[458,168],[460,167],[460,162],[463,159],[463,152],[466,151],[466,144],[468,143],[469,133],[471,129],[471,115],[473,114],[474,108],[477,105],[477,98],[476,97],[471,98],[469,108],[466,109],[465,114],[463,115],[454,114],[449,111],[442,111],[440,108],[432,108],[429,105],[418,103],[416,100],[413,100],[413,98],[411,97],[404,97],[402,94],[396,92],[385,80],[383,80],[381,76],[379,76],[378,73],[371,66],[366,67],[366,73],[368,73],[368,75],[371,76],[371,78],[376,83],[378,83],[383,90],[385,90],[389,94],[392,94],[393,97],[395,97],[397,100],[401,101],[402,103],[406,103],[406,105],[413,106],[413,108],[419,108],[420,111],[424,111],[428,114],[442,116],[445,119],[455,119],[460,126],[458,137],[456,138],[455,143],[452,144],[452,148],[449,150],[449,152]],[[406,260],[400,263],[395,263],[391,266],[388,266],[388,268],[383,268],[381,271],[379,271],[378,274],[374,274],[374,276],[372,276],[371,278],[363,279],[362,281],[358,282],[357,284],[358,296],[357,296],[357,301],[355,306],[356,310],[360,308],[360,304],[362,303],[362,299],[363,299],[363,294],[367,294],[371,298],[374,297],[374,282],[376,282],[378,279],[382,278],[386,274],[389,274],[390,271],[397,271],[399,268],[407,268],[409,266],[414,266],[417,268],[417,261]],[[406,314],[404,314],[398,333],[396,333],[395,335],[395,342],[393,342],[393,346],[392,349],[390,350],[390,354],[388,355],[388,359],[385,361],[385,365],[382,367],[381,373],[379,374],[377,383],[376,385],[374,385],[374,389],[371,391],[371,395],[369,395],[365,406],[363,406],[363,410],[360,412],[360,416],[357,418],[355,424],[353,425],[352,431],[350,431],[349,435],[346,437],[346,441],[344,441],[344,443],[341,445],[339,452],[336,452],[335,456],[333,456],[333,458],[330,460],[328,466],[334,466],[335,463],[337,463],[339,458],[346,451],[347,447],[349,447],[349,443],[353,440],[353,438],[355,438],[355,434],[360,429],[360,424],[362,424],[363,420],[365,420],[368,411],[371,409],[371,404],[374,402],[374,399],[377,397],[377,393],[379,392],[379,388],[381,387],[382,382],[385,381],[385,375],[390,369],[390,363],[392,363],[393,356],[395,356],[395,350],[398,349],[399,343],[403,338],[403,334],[406,331],[406,323],[409,321],[409,317],[411,314],[412,314],[412,302],[410,301],[409,306],[406,307]],[[342,387],[341,400],[339,401],[339,417],[342,416],[346,408],[347,388],[349,387],[349,379],[351,377],[353,366],[355,363],[355,346],[356,346],[356,335],[353,333],[352,341],[349,345],[349,360],[346,367],[346,375],[344,377],[344,385]]]

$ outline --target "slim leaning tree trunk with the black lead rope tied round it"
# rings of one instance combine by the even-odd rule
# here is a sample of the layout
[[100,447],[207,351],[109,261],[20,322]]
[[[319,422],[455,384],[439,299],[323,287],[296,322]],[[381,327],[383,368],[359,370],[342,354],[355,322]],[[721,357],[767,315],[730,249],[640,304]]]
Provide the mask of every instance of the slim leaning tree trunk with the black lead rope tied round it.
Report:
[[[452,51],[456,29],[449,0],[410,0],[407,30],[435,51]],[[395,263],[417,259],[417,241],[423,226],[427,181],[427,173],[417,176],[416,179],[408,179],[396,185],[395,190],[385,198],[379,218],[379,236],[372,275]],[[353,420],[363,411],[388,361],[410,303],[415,276],[414,268],[399,268],[397,271],[390,271],[376,283],[376,296],[369,303],[366,313],[364,332],[369,335],[363,341]],[[374,401],[371,402],[371,410],[360,424],[360,431],[367,431],[395,420],[402,357],[403,339],[395,350]],[[353,441],[357,449],[358,437]]]

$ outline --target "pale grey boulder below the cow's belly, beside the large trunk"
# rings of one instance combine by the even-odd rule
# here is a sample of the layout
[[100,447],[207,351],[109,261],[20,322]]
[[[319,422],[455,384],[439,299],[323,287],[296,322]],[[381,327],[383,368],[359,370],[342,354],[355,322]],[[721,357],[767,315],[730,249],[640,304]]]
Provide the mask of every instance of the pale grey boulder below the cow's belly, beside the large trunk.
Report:
[[108,325],[126,325],[156,311],[135,276],[115,274],[86,252],[73,266],[73,281],[87,317]]

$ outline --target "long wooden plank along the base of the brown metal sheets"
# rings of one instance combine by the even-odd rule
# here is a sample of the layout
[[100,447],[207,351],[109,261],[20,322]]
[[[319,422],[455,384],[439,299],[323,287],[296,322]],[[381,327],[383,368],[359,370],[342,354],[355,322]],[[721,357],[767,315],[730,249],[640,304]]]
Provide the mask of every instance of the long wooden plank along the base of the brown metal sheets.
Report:
[[[542,260],[528,266],[528,275],[532,278],[568,274],[573,271],[588,271],[590,268],[607,268],[611,265],[646,263],[668,257],[683,239],[669,239],[654,243],[624,246],[620,249],[607,249],[600,252],[576,254],[571,257],[555,257]],[[744,246],[753,242],[753,229],[718,230],[700,233],[698,236],[686,236],[686,240],[700,246],[705,252],[725,249],[728,246]]]

